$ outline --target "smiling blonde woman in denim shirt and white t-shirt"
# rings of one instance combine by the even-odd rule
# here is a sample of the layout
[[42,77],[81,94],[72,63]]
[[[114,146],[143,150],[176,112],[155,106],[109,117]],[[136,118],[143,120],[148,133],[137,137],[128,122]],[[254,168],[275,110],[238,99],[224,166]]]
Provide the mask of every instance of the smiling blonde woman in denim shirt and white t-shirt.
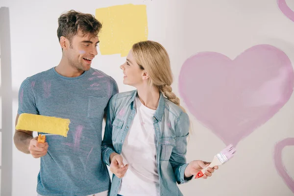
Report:
[[177,183],[207,163],[186,163],[189,117],[172,93],[169,55],[157,42],[139,42],[121,69],[136,90],[116,94],[107,109],[102,156],[114,173],[110,196],[182,196]]

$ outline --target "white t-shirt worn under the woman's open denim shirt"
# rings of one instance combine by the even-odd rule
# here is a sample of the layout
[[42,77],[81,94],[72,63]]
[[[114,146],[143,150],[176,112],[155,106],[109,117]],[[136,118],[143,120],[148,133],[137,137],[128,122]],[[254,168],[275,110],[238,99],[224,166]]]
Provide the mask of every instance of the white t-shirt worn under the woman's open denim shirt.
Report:
[[156,165],[155,110],[135,99],[136,114],[123,143],[123,164],[129,164],[118,192],[122,196],[160,196]]

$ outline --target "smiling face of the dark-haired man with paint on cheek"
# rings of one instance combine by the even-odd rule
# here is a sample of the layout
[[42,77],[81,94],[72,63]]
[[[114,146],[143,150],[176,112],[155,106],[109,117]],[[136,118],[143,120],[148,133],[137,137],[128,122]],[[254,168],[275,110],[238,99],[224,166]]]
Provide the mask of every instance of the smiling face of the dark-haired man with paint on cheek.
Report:
[[73,36],[70,48],[66,51],[69,63],[76,69],[88,71],[93,58],[98,54],[99,39],[90,33],[83,35],[78,31]]

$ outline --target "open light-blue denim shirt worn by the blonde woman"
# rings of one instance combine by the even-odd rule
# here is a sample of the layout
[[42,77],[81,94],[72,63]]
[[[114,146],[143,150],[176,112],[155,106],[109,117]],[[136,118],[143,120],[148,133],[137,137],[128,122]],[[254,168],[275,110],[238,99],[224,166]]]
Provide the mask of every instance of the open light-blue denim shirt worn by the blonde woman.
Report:
[[[108,105],[102,159],[110,165],[110,154],[121,154],[123,142],[136,114],[134,100],[137,90],[114,95]],[[156,163],[159,175],[160,196],[182,196],[177,184],[193,178],[184,177],[187,167],[187,137],[189,117],[172,101],[160,93],[158,107],[153,115],[156,135]],[[140,157],[138,157],[139,159]],[[109,196],[117,196],[122,179],[113,174]]]

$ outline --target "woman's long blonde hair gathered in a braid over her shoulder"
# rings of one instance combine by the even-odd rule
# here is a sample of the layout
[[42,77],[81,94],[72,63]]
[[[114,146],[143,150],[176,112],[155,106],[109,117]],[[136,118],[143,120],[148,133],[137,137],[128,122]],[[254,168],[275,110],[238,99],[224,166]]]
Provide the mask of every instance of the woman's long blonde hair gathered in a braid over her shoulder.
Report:
[[180,99],[172,92],[172,69],[167,50],[154,41],[138,42],[132,47],[133,56],[142,70],[150,77],[150,85],[158,87],[162,94],[174,104],[180,105]]

